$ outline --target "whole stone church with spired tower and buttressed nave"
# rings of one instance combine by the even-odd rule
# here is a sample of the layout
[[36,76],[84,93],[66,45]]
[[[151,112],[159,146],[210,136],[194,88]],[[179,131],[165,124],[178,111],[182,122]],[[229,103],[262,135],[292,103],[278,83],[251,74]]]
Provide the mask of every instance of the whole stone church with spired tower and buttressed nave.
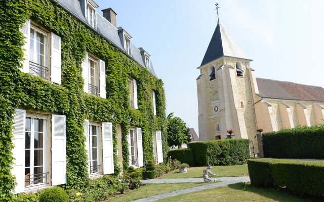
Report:
[[198,67],[199,141],[224,139],[228,129],[255,141],[257,128],[324,123],[324,88],[256,78],[251,61],[218,21]]

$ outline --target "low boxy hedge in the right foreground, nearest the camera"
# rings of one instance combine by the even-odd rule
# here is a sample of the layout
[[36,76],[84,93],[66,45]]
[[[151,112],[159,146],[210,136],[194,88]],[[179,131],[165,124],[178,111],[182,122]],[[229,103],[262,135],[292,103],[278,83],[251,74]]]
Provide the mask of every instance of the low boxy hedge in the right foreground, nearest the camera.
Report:
[[251,184],[287,187],[298,194],[324,196],[324,162],[281,159],[248,160]]

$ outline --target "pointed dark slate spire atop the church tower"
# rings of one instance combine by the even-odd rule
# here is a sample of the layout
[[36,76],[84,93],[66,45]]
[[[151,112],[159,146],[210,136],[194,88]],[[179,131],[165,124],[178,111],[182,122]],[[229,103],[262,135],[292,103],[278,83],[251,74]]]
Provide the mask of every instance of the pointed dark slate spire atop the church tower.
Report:
[[203,66],[222,56],[248,59],[218,20],[215,32],[200,66]]

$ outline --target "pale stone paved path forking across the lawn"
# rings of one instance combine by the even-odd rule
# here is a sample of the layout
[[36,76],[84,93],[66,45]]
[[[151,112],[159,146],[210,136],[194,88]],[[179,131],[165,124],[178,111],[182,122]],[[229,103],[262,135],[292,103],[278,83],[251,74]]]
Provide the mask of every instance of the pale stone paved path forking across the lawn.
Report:
[[[215,177],[215,178],[211,178],[211,179],[216,179],[219,180],[221,182],[218,183],[212,183],[212,184],[206,184],[206,185],[202,185],[202,186],[196,186],[196,187],[192,187],[192,188],[187,188],[187,189],[181,189],[181,190],[177,190],[177,191],[170,191],[167,193],[161,193],[158,195],[153,195],[153,196],[149,196],[146,198],[141,198],[138,200],[134,200],[136,202],[140,202],[140,201],[154,201],[154,200],[158,200],[161,198],[167,198],[167,197],[171,197],[171,196],[176,196],[176,195],[180,195],[180,194],[184,194],[184,193],[190,193],[193,191],[200,191],[200,190],[204,190],[204,189],[212,189],[212,188],[216,188],[219,186],[226,186],[228,184],[235,184],[238,182],[249,182],[250,181],[250,177],[249,176],[244,176],[244,177]],[[179,182],[204,182],[204,178],[175,178],[175,179],[149,179],[149,180],[141,180],[142,183],[147,184],[147,183],[179,183]]]

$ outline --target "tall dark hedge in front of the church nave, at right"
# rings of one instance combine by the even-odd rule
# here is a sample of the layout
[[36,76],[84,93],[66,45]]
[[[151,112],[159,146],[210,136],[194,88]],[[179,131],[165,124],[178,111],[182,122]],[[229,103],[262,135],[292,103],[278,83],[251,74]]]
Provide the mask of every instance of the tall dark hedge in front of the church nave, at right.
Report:
[[324,159],[324,126],[267,132],[262,140],[265,158]]

